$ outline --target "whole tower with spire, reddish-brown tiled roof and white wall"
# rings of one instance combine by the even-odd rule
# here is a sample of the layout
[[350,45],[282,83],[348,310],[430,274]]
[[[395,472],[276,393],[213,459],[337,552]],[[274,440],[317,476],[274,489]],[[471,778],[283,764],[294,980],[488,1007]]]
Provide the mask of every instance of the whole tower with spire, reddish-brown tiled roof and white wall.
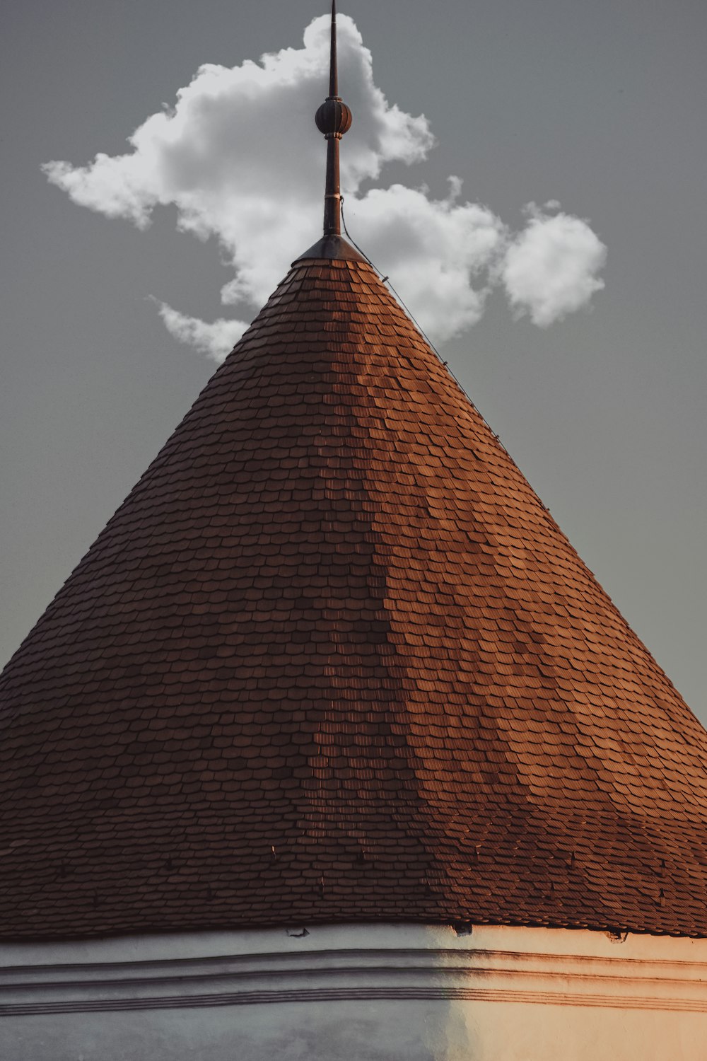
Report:
[[707,735],[341,238],[350,122],[333,32],[322,239],[2,678],[5,1053],[696,1059]]

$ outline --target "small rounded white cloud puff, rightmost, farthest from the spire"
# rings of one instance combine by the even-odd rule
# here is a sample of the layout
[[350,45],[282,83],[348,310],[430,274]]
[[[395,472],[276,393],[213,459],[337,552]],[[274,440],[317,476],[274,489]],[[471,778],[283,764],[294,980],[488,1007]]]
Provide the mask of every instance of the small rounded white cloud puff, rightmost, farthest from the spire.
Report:
[[511,306],[541,328],[587,306],[604,281],[598,273],[606,247],[585,221],[559,212],[560,204],[527,207],[530,222],[510,243],[500,268]]

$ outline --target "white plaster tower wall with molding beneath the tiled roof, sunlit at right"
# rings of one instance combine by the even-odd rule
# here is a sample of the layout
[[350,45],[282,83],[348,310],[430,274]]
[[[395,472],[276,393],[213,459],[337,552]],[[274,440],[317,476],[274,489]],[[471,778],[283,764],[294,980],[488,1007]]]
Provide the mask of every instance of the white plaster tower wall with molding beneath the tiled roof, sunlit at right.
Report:
[[0,945],[0,1059],[706,1061],[707,940],[384,924]]

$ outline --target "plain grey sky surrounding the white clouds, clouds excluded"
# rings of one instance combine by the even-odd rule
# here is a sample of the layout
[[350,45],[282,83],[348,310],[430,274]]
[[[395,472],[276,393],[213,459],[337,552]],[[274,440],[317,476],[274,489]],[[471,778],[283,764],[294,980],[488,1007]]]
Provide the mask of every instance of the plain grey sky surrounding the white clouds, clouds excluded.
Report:
[[[538,329],[496,292],[443,352],[706,721],[707,5],[340,6],[389,102],[424,112],[438,141],[413,168],[391,162],[384,186],[424,181],[442,198],[455,174],[464,197],[512,227],[529,201],[556,198],[606,244],[606,288],[589,311]],[[177,232],[174,207],[141,232],[74,205],[39,167],[124,152],[201,64],[300,48],[322,11],[310,0],[5,4],[2,661],[213,370],[146,296],[207,320],[243,312],[219,303],[232,271],[214,240]]]

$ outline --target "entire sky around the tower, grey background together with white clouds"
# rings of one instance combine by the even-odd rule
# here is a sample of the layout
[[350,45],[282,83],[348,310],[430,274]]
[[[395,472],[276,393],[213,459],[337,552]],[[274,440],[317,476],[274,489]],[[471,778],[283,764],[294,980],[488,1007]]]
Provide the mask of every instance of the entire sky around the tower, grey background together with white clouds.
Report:
[[[351,234],[706,723],[707,6],[339,8]],[[0,662],[319,236],[323,12],[4,6]]]

